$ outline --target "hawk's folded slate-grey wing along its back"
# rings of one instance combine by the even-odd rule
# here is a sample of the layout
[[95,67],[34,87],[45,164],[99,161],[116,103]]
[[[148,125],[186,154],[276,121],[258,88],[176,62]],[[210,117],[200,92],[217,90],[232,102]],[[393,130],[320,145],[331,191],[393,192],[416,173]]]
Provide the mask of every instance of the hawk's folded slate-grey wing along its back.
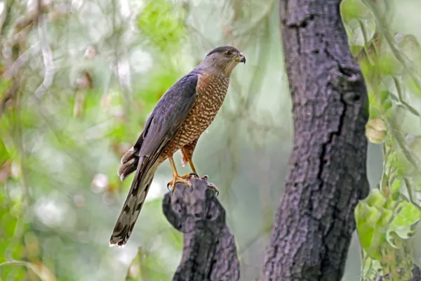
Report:
[[186,119],[196,100],[198,74],[191,72],[178,80],[156,104],[147,119],[145,129],[131,150],[121,158],[119,176],[121,181],[140,168],[140,157],[154,160],[161,155],[163,148],[174,138],[175,133]]

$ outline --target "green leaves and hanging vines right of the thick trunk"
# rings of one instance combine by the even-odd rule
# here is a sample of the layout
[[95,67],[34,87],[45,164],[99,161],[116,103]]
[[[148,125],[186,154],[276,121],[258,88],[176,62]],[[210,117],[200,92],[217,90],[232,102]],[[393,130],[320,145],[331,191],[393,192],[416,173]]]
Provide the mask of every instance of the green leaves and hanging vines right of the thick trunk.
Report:
[[410,249],[410,238],[421,220],[421,48],[412,35],[392,33],[386,22],[388,5],[345,0],[341,6],[368,88],[366,136],[382,143],[385,158],[379,188],[355,209],[363,253],[361,280],[377,280],[379,275],[383,280],[409,280],[413,255],[420,254]]

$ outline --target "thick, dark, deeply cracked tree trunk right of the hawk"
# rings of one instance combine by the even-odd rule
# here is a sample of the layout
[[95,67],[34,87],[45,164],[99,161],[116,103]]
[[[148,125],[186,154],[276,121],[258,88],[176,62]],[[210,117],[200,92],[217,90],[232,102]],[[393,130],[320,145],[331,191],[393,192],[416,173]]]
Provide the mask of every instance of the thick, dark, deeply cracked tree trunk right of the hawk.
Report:
[[340,2],[280,1],[295,135],[261,280],[341,280],[368,195],[368,97]]

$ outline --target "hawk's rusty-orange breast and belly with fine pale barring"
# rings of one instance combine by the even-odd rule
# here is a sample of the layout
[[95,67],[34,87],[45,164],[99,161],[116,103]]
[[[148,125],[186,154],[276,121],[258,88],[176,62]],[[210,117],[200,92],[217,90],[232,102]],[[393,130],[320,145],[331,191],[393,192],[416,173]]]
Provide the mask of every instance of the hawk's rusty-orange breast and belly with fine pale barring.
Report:
[[229,85],[229,77],[217,74],[199,74],[196,86],[197,98],[180,130],[164,151],[173,154],[183,146],[196,141],[215,119]]

